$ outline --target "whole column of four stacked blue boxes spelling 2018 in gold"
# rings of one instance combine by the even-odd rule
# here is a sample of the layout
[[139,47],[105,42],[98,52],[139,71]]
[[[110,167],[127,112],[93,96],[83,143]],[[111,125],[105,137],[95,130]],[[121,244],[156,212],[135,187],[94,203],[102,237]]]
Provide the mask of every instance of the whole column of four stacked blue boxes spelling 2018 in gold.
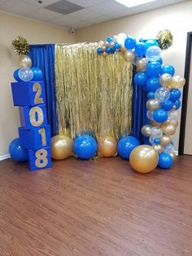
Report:
[[13,82],[11,89],[14,105],[20,109],[20,143],[21,147],[28,149],[29,168],[50,167],[51,140],[44,82]]

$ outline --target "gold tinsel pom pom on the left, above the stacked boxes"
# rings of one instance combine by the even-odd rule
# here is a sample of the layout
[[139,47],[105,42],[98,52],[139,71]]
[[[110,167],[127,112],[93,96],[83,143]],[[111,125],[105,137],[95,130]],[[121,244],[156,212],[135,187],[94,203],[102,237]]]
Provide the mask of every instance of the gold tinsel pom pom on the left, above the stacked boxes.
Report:
[[18,55],[27,55],[29,51],[29,43],[27,39],[18,36],[12,42],[13,51],[17,52]]

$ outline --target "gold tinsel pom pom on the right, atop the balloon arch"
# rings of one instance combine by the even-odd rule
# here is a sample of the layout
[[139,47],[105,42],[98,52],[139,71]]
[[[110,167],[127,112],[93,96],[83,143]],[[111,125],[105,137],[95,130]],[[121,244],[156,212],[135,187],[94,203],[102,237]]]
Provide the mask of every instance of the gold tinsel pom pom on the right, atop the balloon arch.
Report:
[[172,46],[173,36],[171,31],[169,31],[168,29],[159,31],[156,39],[159,42],[159,47],[163,51],[167,50],[168,47]]

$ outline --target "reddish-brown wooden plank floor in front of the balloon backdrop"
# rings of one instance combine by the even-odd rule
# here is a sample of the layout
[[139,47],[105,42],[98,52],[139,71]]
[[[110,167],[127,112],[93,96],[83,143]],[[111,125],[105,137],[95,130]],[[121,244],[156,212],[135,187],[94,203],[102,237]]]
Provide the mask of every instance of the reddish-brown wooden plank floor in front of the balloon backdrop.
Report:
[[192,255],[192,157],[144,175],[120,158],[1,161],[0,255]]

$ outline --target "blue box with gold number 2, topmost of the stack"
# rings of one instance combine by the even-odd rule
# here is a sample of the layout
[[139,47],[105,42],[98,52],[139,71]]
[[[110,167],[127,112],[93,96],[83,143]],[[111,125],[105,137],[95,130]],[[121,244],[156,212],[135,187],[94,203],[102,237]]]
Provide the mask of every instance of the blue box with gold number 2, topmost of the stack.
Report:
[[42,81],[12,82],[14,106],[35,106],[46,104],[45,85]]

